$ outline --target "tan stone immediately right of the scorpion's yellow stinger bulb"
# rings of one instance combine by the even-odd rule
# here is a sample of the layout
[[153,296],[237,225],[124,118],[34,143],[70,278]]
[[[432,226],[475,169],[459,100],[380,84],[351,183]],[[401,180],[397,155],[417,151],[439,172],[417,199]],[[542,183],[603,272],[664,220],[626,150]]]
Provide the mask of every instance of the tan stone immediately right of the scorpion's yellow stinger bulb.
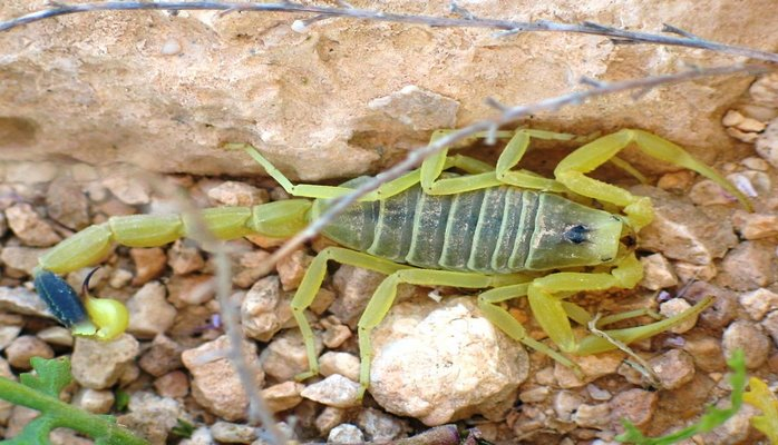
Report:
[[128,333],[137,338],[154,338],[173,326],[176,308],[165,299],[166,293],[162,283],[152,281],[127,300]]

